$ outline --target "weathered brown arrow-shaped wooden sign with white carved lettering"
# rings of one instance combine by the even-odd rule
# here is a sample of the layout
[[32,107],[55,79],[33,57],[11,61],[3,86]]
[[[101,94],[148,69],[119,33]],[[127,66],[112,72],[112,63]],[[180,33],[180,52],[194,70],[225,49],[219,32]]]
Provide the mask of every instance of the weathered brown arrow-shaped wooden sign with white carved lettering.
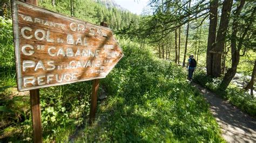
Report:
[[107,27],[12,5],[19,91],[104,78],[123,56]]

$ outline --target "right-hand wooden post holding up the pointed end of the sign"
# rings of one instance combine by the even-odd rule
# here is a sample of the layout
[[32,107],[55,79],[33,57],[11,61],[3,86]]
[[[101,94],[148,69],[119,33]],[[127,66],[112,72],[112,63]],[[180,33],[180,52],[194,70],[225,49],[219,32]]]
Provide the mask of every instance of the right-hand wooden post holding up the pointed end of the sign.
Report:
[[[106,23],[101,22],[100,26],[108,27]],[[97,91],[99,88],[99,79],[92,81],[92,95],[91,95],[91,110],[90,110],[90,119],[89,123],[95,119],[96,109],[97,109]]]

